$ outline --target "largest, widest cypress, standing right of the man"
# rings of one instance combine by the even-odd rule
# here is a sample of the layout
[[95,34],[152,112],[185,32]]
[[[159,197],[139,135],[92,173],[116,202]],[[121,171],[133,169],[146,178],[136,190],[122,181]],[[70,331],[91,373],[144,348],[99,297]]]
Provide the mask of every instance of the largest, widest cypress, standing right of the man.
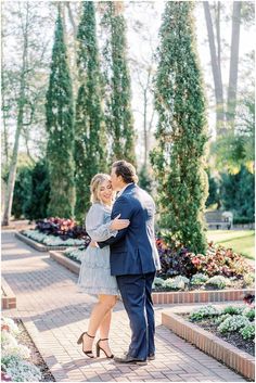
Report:
[[155,78],[157,146],[151,157],[162,226],[193,252],[205,252],[207,136],[192,7],[190,1],[168,1],[165,8]]

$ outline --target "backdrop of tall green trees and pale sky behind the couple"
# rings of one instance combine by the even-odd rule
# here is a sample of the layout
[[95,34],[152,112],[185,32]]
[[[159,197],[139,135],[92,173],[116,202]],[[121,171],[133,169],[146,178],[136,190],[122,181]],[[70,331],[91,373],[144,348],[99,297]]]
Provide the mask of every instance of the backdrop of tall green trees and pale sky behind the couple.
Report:
[[[204,170],[207,208],[254,220],[248,37],[255,4],[190,5],[3,2],[3,224],[11,212],[29,219],[75,214],[82,220],[91,176],[119,157],[137,164],[141,186],[159,197],[162,224],[172,217],[168,225],[177,222],[171,230],[188,234],[185,242],[195,235],[203,246]],[[171,34],[176,29],[182,43]]]

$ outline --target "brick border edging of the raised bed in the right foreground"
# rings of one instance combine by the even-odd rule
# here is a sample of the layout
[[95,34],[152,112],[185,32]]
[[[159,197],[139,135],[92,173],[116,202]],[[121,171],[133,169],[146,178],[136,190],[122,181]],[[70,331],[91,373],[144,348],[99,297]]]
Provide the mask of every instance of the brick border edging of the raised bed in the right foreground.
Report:
[[[162,324],[174,331],[175,334],[192,343],[204,353],[222,361],[243,376],[255,380],[255,359],[252,355],[241,352],[239,348],[222,341],[218,336],[191,323],[176,312],[189,312],[189,306],[172,307],[162,312]],[[190,306],[190,310],[191,310]],[[193,306],[193,309],[195,307]]]

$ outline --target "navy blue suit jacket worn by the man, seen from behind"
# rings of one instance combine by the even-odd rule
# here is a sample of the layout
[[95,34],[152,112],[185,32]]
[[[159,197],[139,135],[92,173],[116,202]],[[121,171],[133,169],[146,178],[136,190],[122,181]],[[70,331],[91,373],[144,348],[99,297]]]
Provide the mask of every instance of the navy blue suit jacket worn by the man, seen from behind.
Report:
[[112,276],[140,275],[159,269],[153,199],[135,183],[129,184],[115,201],[111,218],[118,214],[120,218],[130,220],[128,228],[119,230],[115,238],[99,242],[100,247],[111,246]]

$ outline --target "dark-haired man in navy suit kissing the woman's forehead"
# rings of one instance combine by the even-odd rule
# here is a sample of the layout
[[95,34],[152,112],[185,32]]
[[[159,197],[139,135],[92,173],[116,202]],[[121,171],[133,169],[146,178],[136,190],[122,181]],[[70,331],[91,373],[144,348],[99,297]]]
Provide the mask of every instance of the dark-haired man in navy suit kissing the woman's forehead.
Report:
[[136,182],[135,167],[126,161],[112,166],[112,187],[118,191],[112,218],[120,214],[130,225],[115,238],[100,242],[111,246],[111,273],[116,276],[125,309],[131,328],[128,353],[115,360],[123,363],[146,365],[155,358],[154,309],[151,297],[159,257],[154,238],[155,204],[153,199]]

